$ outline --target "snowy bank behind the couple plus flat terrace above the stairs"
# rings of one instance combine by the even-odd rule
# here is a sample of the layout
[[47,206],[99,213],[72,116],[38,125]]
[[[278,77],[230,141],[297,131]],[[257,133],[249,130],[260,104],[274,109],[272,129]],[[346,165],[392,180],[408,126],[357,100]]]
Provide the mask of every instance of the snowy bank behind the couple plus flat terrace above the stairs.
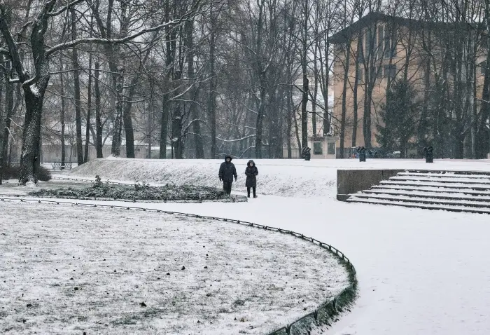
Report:
[[[233,160],[238,172],[238,181],[233,191],[245,191],[245,167],[248,160]],[[76,167],[71,176],[90,177],[102,180],[134,182],[146,181],[153,184],[193,184],[221,187],[218,179],[222,160],[148,160],[129,158],[99,158]],[[489,160],[367,160],[360,163],[355,159],[342,160],[255,160],[259,175],[258,193],[288,197],[335,197],[337,169],[392,168],[432,170],[481,170],[490,171]]]

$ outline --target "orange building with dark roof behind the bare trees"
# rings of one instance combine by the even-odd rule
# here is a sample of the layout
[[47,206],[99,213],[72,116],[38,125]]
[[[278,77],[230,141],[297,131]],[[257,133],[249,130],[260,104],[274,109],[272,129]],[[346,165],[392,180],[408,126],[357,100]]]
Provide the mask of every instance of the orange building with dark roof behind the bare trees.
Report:
[[[339,130],[337,148],[343,149],[344,157],[351,147],[379,147],[377,128],[384,127],[380,111],[395,81],[409,82],[417,102],[421,102],[418,114],[413,116],[416,132],[402,156],[410,156],[410,147],[416,154],[417,146],[437,145],[437,141],[444,146],[447,139],[437,138],[442,121],[433,115],[444,114],[444,122],[449,120],[453,128],[460,123],[468,128],[472,122],[468,118],[479,109],[487,49],[486,43],[479,41],[477,28],[471,25],[370,13],[333,35],[332,43],[332,122]],[[439,104],[435,101],[438,94],[442,99]],[[458,101],[451,100],[453,97]],[[449,100],[451,104],[444,104]],[[442,106],[440,111],[435,110],[437,106]],[[455,141],[468,142],[470,134],[463,136]]]

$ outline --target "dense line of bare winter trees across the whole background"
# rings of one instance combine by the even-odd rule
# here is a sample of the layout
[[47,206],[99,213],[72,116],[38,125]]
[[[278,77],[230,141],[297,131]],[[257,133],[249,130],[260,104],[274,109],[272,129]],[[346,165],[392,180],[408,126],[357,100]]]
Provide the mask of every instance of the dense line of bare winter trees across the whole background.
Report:
[[[430,79],[427,89],[416,90],[422,97],[412,117],[416,134],[404,136],[435,141],[454,156],[462,155],[469,138],[472,157],[482,156],[490,71],[483,88],[476,87],[479,67],[472,60],[488,32],[483,0],[0,0],[0,166],[20,146],[20,183],[36,182],[39,151],[47,143],[62,144],[62,161],[66,144],[76,148],[78,164],[87,161],[91,146],[102,157],[104,144],[111,144],[113,156],[124,147],[128,158],[138,144],[148,156],[159,146],[158,158],[230,152],[290,158],[311,132],[327,135],[332,128],[343,151],[350,145],[346,130],[352,127],[356,142],[359,123],[370,144],[372,130],[385,123],[372,102],[381,75],[374,66],[377,48],[362,62],[347,60],[334,76],[339,48],[352,48],[346,57],[359,57],[360,48],[331,36],[374,12],[471,24],[456,26],[458,34],[427,27],[396,37],[402,44],[424,41],[419,49]],[[395,26],[385,29],[384,36],[397,36]],[[405,46],[408,68],[421,51]],[[354,80],[363,82],[359,92],[352,67]],[[362,95],[353,106],[345,94],[336,100],[340,115],[328,106],[335,81],[344,93]],[[477,90],[483,90],[479,100]]]

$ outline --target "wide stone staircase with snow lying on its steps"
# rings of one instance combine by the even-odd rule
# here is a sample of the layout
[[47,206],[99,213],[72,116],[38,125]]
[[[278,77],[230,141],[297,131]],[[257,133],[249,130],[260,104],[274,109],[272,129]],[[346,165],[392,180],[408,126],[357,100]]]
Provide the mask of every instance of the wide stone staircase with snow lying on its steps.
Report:
[[346,201],[490,214],[490,172],[406,170]]

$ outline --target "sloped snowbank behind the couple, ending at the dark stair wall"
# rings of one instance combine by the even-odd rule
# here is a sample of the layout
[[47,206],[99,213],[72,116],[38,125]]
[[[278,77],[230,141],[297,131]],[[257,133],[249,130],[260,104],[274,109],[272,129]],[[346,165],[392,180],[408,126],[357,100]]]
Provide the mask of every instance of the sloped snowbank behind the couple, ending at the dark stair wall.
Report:
[[[245,192],[245,167],[248,160],[233,160],[238,180],[232,192]],[[256,160],[259,175],[257,193],[275,196],[335,196],[337,169],[324,166],[286,165],[291,160]],[[295,163],[297,161],[294,161]],[[102,181],[148,182],[151,184],[191,184],[221,187],[218,170],[222,160],[144,160],[99,158],[76,167],[71,177]]]

